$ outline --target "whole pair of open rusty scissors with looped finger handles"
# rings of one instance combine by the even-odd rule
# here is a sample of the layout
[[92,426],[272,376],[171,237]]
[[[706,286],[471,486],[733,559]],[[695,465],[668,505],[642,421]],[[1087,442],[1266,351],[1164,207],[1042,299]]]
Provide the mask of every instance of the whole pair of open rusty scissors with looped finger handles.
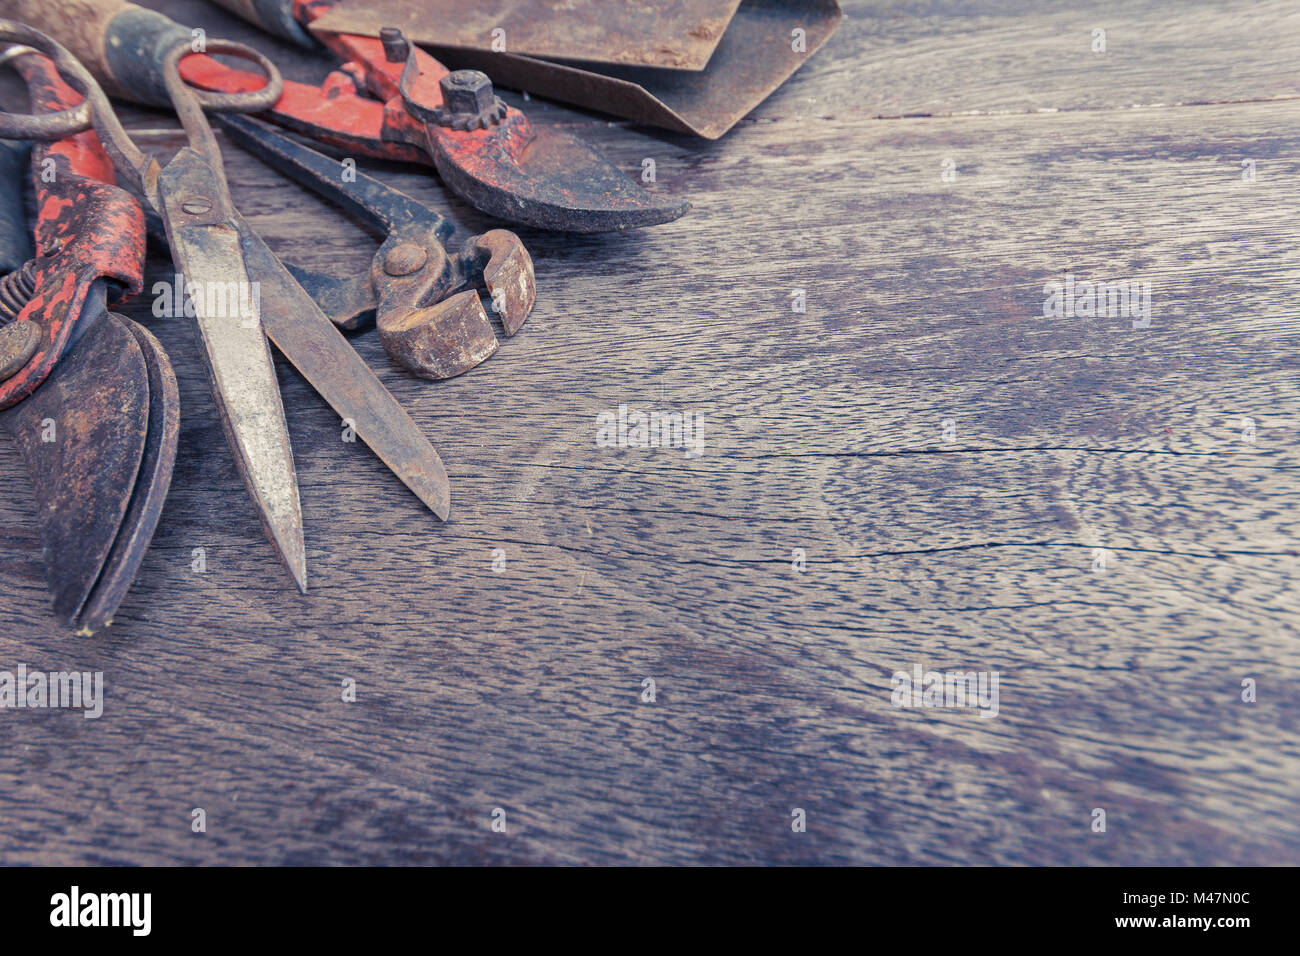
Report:
[[[0,1],[0,9],[10,3]],[[195,313],[226,437],[268,535],[299,588],[306,591],[298,483],[264,332],[334,410],[354,424],[356,434],[445,519],[447,473],[437,451],[230,203],[221,155],[203,111],[256,109],[273,103],[280,95],[274,66],[242,44],[209,39],[209,51],[252,60],[268,82],[250,94],[200,92],[186,86],[177,69],[191,52],[187,34],[152,48],[153,59],[148,60],[140,81],[146,82],[152,70],[159,72],[190,143],[160,168],[131,143],[103,90],[69,51],[31,27],[12,21],[0,26],[0,39],[20,40],[47,52],[60,74],[86,96],[77,109],[39,118],[47,121],[46,126],[57,120],[65,130],[86,122],[94,125],[118,173],[130,179],[161,219],[177,272],[188,280],[191,299],[198,291],[205,300],[199,304],[195,299]],[[56,26],[84,40],[84,23]],[[3,114],[0,133],[48,138],[48,129],[32,129],[32,118]],[[231,289],[230,284],[251,290],[248,299],[240,298],[240,308],[234,313],[229,295],[226,308],[213,308],[212,290]],[[243,308],[248,304],[255,306],[251,315]]]

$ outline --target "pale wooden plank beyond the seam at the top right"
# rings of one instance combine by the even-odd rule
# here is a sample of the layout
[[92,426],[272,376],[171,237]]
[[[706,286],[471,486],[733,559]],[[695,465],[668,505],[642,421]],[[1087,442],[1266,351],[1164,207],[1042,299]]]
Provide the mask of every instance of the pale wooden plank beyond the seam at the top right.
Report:
[[[872,0],[755,118],[1294,99],[1286,0]],[[1097,31],[1101,31],[1100,34]]]

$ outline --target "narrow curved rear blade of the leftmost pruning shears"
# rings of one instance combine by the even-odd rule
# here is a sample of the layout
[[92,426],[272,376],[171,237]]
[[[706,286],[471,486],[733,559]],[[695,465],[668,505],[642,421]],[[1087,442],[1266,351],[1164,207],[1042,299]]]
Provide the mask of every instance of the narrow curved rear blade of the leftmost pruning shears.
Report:
[[117,541],[104,562],[99,581],[81,613],[83,633],[94,633],[113,623],[118,605],[126,597],[144,553],[162,515],[162,502],[172,486],[172,467],[176,464],[176,446],[181,434],[181,394],[176,372],[159,341],[130,319],[109,313],[108,319],[125,326],[139,343],[150,376],[148,436],[135,492],[122,518]]

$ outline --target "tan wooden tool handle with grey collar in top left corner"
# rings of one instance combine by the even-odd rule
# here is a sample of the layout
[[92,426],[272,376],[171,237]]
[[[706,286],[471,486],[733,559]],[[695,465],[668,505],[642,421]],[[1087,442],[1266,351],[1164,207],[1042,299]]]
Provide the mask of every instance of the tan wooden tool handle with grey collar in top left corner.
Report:
[[0,0],[0,17],[53,36],[108,92],[140,103],[169,103],[166,51],[191,31],[125,0]]

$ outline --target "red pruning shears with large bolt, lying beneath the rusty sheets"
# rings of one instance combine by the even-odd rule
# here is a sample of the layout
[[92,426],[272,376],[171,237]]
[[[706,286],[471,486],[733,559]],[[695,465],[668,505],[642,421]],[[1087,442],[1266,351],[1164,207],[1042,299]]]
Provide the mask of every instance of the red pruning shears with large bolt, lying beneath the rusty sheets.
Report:
[[[333,5],[299,0],[290,17],[287,3],[218,1],[280,33]],[[320,87],[286,81],[266,118],[354,155],[433,164],[471,204],[540,229],[629,229],[668,222],[689,208],[651,195],[577,138],[532,126],[497,98],[484,73],[448,73],[400,31],[386,30],[382,39],[320,33],[317,39],[346,61],[343,68]],[[247,74],[208,57],[191,57],[185,75],[209,90],[251,88]]]

